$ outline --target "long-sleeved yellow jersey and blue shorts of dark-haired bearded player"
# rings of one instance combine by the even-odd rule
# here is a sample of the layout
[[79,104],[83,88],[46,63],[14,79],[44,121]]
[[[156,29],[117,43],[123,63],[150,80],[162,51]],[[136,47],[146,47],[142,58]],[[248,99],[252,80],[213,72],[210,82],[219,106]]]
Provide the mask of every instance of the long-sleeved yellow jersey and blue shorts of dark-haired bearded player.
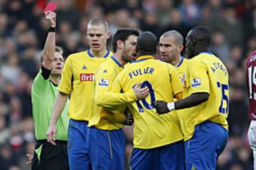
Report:
[[[109,113],[104,107],[100,107],[97,103],[114,103],[120,104],[119,101],[127,98],[137,100],[133,91],[128,93],[113,93],[111,99],[108,95],[113,81],[119,72],[123,70],[122,65],[111,56],[102,63],[95,72],[94,88],[92,94],[92,112],[90,114],[87,145],[90,161],[93,169],[101,167],[102,169],[124,169],[124,150],[125,137],[122,128],[123,124],[117,122],[109,122],[105,117],[108,114],[123,114],[125,107],[121,106],[114,113]],[[125,116],[124,116],[125,118]]]

